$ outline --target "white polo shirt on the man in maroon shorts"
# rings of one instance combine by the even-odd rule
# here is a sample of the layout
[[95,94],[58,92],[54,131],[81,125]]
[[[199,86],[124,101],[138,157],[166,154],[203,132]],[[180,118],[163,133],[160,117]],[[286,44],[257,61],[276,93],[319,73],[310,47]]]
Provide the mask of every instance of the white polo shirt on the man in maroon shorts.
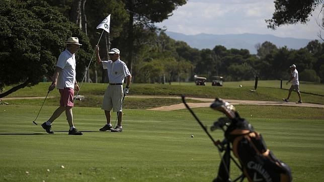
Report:
[[58,73],[56,87],[58,89],[74,88],[75,82],[75,54],[70,53],[67,49],[61,52],[57,60],[57,67],[62,68]]

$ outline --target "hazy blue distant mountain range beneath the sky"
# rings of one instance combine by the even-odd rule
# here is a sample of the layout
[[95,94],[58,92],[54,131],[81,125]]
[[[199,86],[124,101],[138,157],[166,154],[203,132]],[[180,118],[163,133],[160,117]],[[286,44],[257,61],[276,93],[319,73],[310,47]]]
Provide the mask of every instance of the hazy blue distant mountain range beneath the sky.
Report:
[[309,39],[296,39],[289,37],[276,37],[269,34],[227,34],[227,35],[214,35],[214,34],[197,34],[185,35],[176,32],[166,32],[166,34],[174,40],[184,41],[190,47],[197,49],[213,49],[216,45],[222,45],[226,49],[248,49],[251,54],[256,54],[256,44],[269,41],[275,44],[278,48],[287,46],[289,49],[300,49],[305,47]]

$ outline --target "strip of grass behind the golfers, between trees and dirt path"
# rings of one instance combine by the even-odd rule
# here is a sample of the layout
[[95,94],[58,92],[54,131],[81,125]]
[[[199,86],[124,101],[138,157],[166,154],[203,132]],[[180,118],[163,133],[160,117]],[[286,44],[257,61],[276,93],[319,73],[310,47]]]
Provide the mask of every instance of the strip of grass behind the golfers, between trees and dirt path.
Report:
[[[246,84],[247,86],[246,86]],[[252,100],[252,101],[282,101],[282,98],[286,98],[288,94],[288,85],[284,85],[283,88],[275,86],[274,81],[259,81],[260,86],[258,86],[256,92],[251,92],[254,86],[253,81],[242,82],[226,82],[228,85],[224,86],[196,86],[193,83],[181,83],[181,84],[132,84],[130,87],[130,95],[153,95],[153,96],[177,96],[184,94],[187,97],[202,97],[202,98],[222,98],[222,99],[233,99],[233,100]],[[263,83],[264,82],[264,83]],[[243,87],[239,88],[238,85],[242,84]],[[249,84],[248,84],[249,83]],[[39,97],[46,96],[47,88],[50,83],[40,83],[33,87],[25,87],[19,89],[17,92],[9,95],[10,97]],[[263,84],[265,84],[263,86]],[[234,86],[237,85],[237,86]],[[88,106],[88,107],[97,107],[101,105],[102,97],[106,90],[107,83],[84,83],[79,92],[79,95],[84,95],[86,97],[85,103],[76,102],[76,106]],[[301,90],[306,90],[305,93],[301,94],[302,100],[304,103],[313,103],[313,104],[324,104],[324,84],[311,84],[305,83],[301,85]],[[9,87],[6,87],[8,90]],[[57,90],[53,90],[49,93],[49,97],[59,97]],[[7,98],[7,97],[6,97]],[[56,99],[56,101],[58,98]],[[127,98],[128,100],[128,98]],[[291,101],[298,101],[298,96],[295,92],[291,94]],[[55,100],[53,100],[55,101]],[[8,101],[9,103],[14,101]],[[16,104],[20,101],[15,101]],[[17,103],[18,102],[18,103]],[[25,104],[28,104],[28,101],[24,101]],[[172,101],[174,104],[181,103],[180,97],[177,101]],[[39,102],[40,105],[42,102]],[[160,103],[160,102],[155,102]],[[165,104],[170,104],[171,102],[161,102],[161,106]],[[78,105],[79,104],[79,105]],[[133,104],[132,104],[133,105]],[[137,104],[134,104],[137,105]],[[153,106],[148,106],[153,107]]]

